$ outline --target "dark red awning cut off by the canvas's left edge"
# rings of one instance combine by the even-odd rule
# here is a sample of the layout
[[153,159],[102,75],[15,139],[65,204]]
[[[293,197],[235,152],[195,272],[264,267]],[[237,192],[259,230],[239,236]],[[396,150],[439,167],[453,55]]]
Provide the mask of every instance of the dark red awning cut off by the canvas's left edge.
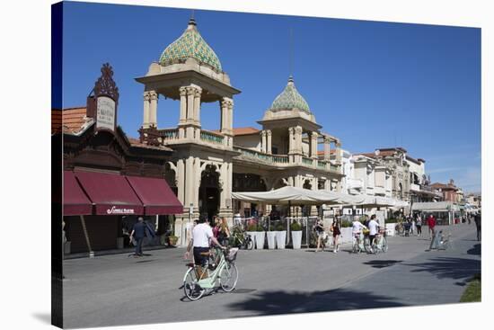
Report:
[[83,190],[77,180],[74,172],[64,171],[64,216],[78,216],[91,214],[93,204]]

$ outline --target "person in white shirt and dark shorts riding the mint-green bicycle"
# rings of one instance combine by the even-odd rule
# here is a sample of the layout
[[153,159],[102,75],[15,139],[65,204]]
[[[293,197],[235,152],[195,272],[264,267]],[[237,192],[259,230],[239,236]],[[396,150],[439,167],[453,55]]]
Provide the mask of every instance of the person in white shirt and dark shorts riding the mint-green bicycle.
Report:
[[198,267],[198,278],[202,277],[202,268],[207,263],[207,257],[209,252],[209,240],[220,248],[224,249],[225,246],[219,244],[215,236],[213,235],[213,229],[209,226],[207,217],[201,215],[198,219],[198,225],[192,229],[192,236],[190,237],[190,243],[187,246],[187,252],[185,253],[185,259],[190,258],[190,249],[194,247],[194,263]]

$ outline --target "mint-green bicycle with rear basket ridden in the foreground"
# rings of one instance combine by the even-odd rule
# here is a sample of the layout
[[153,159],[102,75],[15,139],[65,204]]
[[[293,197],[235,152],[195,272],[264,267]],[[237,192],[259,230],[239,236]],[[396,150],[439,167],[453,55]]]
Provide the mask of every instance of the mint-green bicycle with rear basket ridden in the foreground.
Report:
[[209,263],[211,252],[202,253],[207,255],[207,263],[204,267],[188,263],[189,269],[183,276],[183,291],[185,296],[190,300],[200,299],[207,290],[213,290],[216,286],[216,281],[225,292],[230,292],[235,289],[238,281],[238,270],[234,263],[238,248],[225,248],[224,250],[215,247],[216,257],[219,256],[217,265]]

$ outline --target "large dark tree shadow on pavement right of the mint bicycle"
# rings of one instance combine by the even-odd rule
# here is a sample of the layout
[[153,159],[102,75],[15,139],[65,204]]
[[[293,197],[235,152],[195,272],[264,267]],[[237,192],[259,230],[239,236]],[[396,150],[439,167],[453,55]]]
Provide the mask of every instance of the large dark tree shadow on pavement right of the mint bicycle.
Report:
[[253,315],[277,315],[332,310],[390,308],[406,306],[392,298],[365,291],[336,289],[326,291],[263,291],[230,305],[232,310],[251,311]]

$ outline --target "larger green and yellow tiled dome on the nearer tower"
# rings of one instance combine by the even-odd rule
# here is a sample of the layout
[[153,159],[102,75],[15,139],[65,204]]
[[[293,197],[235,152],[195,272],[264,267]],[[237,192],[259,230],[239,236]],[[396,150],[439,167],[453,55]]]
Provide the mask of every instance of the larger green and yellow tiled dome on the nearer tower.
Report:
[[196,58],[200,63],[222,71],[221,63],[213,49],[200,36],[194,19],[190,19],[189,26],[181,37],[172,42],[160,58],[160,64],[166,66],[172,63],[183,62],[187,58]]

